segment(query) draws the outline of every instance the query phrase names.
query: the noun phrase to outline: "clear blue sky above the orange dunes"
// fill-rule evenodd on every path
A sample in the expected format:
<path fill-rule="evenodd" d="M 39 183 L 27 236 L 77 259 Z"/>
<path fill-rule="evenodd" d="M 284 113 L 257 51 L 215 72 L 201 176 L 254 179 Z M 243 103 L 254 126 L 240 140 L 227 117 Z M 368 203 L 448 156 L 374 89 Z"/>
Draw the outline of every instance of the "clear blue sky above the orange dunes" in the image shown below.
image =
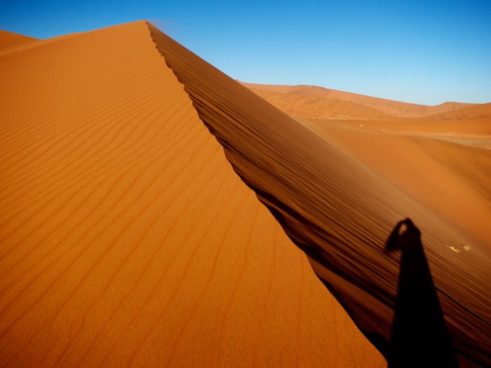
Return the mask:
<path fill-rule="evenodd" d="M 241 81 L 491 102 L 491 0 L 0 0 L 0 29 L 43 39 L 140 19 Z"/>

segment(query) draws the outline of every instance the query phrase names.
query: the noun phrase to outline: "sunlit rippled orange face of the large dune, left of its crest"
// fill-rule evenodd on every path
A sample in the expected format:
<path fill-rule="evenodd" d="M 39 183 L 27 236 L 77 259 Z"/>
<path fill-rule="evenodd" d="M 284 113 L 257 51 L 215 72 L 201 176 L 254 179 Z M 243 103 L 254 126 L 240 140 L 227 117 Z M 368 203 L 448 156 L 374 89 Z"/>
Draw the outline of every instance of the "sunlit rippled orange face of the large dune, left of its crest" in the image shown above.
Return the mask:
<path fill-rule="evenodd" d="M 0 59 L 1 366 L 384 365 L 144 22 L 16 50 Z"/>

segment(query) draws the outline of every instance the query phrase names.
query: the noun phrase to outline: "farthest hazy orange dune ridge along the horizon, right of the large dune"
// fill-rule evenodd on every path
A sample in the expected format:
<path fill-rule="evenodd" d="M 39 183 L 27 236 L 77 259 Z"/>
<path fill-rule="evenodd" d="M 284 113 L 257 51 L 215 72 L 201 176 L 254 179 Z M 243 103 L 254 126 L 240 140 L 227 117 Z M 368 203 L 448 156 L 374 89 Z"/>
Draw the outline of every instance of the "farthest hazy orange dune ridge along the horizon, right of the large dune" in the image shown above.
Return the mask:
<path fill-rule="evenodd" d="M 254 83 L 243 83 L 243 86 L 251 90 L 267 90 L 269 92 L 288 93 L 304 97 L 328 98 L 340 101 L 353 102 L 365 107 L 377 109 L 378 111 L 399 118 L 417 118 L 427 115 L 440 114 L 445 111 L 462 109 L 473 104 L 462 104 L 459 102 L 445 102 L 437 106 L 426 106 L 421 104 L 409 104 L 385 100 L 383 98 L 358 95 L 356 93 L 343 92 L 340 90 L 330 90 L 318 86 L 269 86 Z"/>

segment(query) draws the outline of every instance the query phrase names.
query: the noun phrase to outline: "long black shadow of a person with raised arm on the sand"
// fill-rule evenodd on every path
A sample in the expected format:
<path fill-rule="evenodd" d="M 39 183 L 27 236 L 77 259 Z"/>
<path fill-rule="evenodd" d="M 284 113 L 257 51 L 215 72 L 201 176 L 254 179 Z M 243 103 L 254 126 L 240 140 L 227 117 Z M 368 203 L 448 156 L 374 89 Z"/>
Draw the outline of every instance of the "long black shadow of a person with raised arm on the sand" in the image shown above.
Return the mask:
<path fill-rule="evenodd" d="M 410 219 L 399 222 L 386 251 L 401 250 L 392 323 L 389 367 L 459 367 L 424 255 L 421 232 Z"/>

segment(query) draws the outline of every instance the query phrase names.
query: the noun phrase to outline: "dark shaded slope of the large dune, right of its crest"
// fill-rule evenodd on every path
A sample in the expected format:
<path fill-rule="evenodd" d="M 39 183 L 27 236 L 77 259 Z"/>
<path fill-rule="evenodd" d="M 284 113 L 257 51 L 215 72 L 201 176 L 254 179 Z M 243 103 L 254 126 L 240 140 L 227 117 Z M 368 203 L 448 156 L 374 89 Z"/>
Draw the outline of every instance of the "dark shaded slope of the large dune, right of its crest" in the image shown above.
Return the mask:
<path fill-rule="evenodd" d="M 379 348 L 389 340 L 398 277 L 398 258 L 383 250 L 396 222 L 411 217 L 422 230 L 461 358 L 490 363 L 487 246 L 150 29 L 234 170 L 309 255 L 316 273 Z M 471 245 L 473 252 L 457 255 L 447 243 Z"/>

